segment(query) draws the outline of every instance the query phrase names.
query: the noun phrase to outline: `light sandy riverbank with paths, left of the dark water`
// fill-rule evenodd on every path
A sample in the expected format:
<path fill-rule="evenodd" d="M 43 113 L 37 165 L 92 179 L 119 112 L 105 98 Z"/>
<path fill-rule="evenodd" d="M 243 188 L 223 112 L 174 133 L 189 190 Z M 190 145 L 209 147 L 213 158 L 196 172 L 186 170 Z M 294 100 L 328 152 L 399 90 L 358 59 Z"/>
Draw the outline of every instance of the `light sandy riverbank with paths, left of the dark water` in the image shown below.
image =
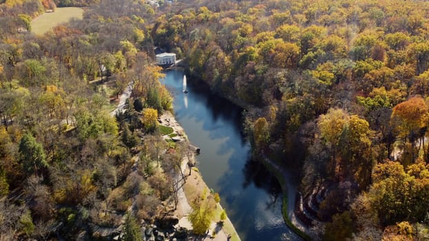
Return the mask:
<path fill-rule="evenodd" d="M 179 137 L 179 141 L 186 142 L 188 144 L 189 140 L 186 136 L 185 130 L 179 123 L 177 123 L 176 119 L 170 112 L 165 112 L 163 115 L 159 117 L 161 121 L 161 125 L 166 125 L 168 127 L 172 127 L 174 133 L 177 134 Z M 190 155 L 190 158 L 192 160 L 188 159 L 188 156 L 184 156 L 182 163 L 181 163 L 181 169 L 183 173 L 186 175 L 186 180 L 179 180 L 179 190 L 178 190 L 178 203 L 177 203 L 177 210 L 176 215 L 179 217 L 179 226 L 180 227 L 186 227 L 187 229 L 192 229 L 192 225 L 188 221 L 188 214 L 192 211 L 192 208 L 190 207 L 190 202 L 188 200 L 192 200 L 195 196 L 200 196 L 202 193 L 206 190 L 210 192 L 210 188 L 206 185 L 206 182 L 204 182 L 201 174 L 199 174 L 199 171 L 197 169 L 194 169 L 194 171 L 191 171 L 191 175 L 189 174 L 188 169 L 188 163 L 196 163 L 196 156 L 192 153 Z M 210 224 L 210 229 L 208 231 L 208 235 L 206 237 L 202 238 L 202 240 L 219 240 L 224 241 L 228 239 L 228 235 L 230 235 L 231 241 L 241 241 L 239 238 L 239 235 L 237 231 L 235 230 L 235 227 L 233 226 L 230 219 L 226 218 L 226 220 L 223 222 L 223 227 L 219 227 L 219 224 L 217 222 L 219 221 L 219 216 L 223 208 L 221 205 L 217 204 L 216 211 L 215 211 L 215 220 L 212 220 L 212 224 Z M 215 235 L 213 235 L 215 234 Z M 201 239 L 199 239 L 201 240 Z"/>

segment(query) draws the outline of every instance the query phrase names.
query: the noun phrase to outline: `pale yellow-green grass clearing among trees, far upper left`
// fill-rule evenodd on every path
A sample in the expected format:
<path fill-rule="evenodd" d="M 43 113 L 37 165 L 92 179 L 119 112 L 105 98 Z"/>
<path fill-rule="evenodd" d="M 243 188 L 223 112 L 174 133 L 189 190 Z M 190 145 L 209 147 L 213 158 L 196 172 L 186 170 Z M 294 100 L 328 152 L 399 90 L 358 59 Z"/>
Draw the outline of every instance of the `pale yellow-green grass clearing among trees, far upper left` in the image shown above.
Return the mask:
<path fill-rule="evenodd" d="M 42 35 L 56 25 L 59 25 L 59 23 L 66 23 L 71 18 L 82 19 L 83 9 L 57 8 L 55 12 L 45 12 L 31 21 L 31 32 Z"/>

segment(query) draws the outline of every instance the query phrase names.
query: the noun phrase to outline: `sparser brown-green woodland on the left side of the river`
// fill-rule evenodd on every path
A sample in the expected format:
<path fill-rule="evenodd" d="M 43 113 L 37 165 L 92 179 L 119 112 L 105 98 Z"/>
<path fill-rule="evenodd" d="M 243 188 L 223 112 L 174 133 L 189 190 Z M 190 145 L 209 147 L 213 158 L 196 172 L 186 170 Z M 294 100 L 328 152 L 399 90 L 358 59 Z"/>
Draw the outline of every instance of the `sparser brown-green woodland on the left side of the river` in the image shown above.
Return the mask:
<path fill-rule="evenodd" d="M 11 2 L 0 15 L 0 239 L 94 240 L 122 227 L 141 240 L 141 220 L 174 209 L 188 153 L 159 134 L 172 98 L 153 65 L 153 8 L 105 1 L 34 36 L 22 29 L 43 3 Z M 112 116 L 131 82 L 126 112 Z"/>

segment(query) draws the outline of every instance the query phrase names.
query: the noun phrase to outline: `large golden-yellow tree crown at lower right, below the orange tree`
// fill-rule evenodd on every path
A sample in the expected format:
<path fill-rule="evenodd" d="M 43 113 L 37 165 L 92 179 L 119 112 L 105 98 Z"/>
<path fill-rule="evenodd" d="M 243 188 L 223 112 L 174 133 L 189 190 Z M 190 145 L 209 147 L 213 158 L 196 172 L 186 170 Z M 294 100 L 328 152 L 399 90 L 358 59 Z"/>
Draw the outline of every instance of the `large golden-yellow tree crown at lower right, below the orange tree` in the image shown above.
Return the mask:
<path fill-rule="evenodd" d="M 408 166 L 387 161 L 375 167 L 373 184 L 368 191 L 372 209 L 383 225 L 401 221 L 418 222 L 428 212 L 428 170 L 423 163 Z M 422 175 L 423 174 L 423 175 Z"/>

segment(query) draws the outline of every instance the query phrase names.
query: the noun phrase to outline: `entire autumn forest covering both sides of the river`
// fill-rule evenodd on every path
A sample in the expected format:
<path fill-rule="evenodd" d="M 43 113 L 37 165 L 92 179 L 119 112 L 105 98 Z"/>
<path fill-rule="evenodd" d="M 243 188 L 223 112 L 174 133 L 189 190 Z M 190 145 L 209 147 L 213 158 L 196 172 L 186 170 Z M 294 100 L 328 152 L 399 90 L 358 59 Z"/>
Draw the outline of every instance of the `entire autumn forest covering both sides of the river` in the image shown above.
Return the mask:
<path fill-rule="evenodd" d="M 0 3 L 1 238 L 101 238 L 130 205 L 134 226 L 166 209 L 186 147 L 159 136 L 154 46 L 246 109 L 255 159 L 301 172 L 313 240 L 428 238 L 429 2 Z M 31 34 L 54 6 L 88 8 Z"/>

